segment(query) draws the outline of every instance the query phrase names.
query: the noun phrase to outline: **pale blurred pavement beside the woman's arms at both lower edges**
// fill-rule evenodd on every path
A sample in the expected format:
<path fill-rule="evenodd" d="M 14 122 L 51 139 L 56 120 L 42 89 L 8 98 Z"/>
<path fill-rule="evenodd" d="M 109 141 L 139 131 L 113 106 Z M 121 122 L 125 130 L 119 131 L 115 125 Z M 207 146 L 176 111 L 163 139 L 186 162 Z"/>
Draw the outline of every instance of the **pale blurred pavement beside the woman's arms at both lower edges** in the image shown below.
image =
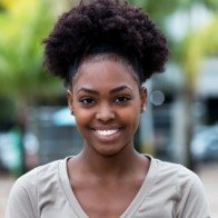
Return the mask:
<path fill-rule="evenodd" d="M 218 218 L 218 162 L 201 164 L 198 175 L 205 186 L 212 218 Z M 0 175 L 0 218 L 3 218 L 9 191 L 14 178 Z"/>

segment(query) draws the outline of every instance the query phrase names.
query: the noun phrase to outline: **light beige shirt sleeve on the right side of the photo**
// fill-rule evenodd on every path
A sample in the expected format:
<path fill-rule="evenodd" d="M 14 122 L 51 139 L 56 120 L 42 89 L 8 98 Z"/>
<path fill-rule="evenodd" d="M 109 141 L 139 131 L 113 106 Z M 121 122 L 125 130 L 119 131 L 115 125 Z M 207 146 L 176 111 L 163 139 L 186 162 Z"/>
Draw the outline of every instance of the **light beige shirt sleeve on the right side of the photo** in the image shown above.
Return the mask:
<path fill-rule="evenodd" d="M 188 169 L 178 176 L 176 218 L 211 218 L 207 197 L 199 177 Z"/>

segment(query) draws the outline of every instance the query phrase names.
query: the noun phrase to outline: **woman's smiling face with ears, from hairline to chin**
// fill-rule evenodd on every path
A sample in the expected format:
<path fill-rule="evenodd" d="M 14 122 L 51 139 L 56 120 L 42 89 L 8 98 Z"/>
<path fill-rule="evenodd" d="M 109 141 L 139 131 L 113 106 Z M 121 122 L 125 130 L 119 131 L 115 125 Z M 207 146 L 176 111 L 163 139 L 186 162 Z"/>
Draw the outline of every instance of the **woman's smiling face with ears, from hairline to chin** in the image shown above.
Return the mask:
<path fill-rule="evenodd" d="M 123 63 L 88 60 L 81 63 L 68 90 L 68 103 L 85 150 L 113 156 L 132 149 L 133 135 L 146 102 L 146 90 Z"/>

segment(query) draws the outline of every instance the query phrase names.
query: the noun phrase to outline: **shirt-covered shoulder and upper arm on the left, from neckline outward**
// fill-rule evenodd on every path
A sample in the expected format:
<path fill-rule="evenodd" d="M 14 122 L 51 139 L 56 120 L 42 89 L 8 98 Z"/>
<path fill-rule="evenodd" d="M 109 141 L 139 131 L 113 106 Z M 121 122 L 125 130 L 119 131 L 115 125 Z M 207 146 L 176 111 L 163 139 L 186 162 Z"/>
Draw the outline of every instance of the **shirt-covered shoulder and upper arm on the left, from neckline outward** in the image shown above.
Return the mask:
<path fill-rule="evenodd" d="M 7 204 L 7 218 L 39 217 L 39 194 L 56 180 L 61 161 L 63 160 L 37 167 L 16 180 Z"/>

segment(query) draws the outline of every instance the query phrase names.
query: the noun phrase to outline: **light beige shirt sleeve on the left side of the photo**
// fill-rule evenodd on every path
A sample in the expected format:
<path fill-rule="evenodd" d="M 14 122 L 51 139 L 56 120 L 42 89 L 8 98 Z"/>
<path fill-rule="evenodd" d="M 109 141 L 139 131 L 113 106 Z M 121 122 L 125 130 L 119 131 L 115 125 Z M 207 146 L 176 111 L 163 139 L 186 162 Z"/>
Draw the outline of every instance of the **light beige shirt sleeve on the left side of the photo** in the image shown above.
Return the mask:
<path fill-rule="evenodd" d="M 9 195 L 6 218 L 37 218 L 34 190 L 22 178 L 18 179 Z"/>

